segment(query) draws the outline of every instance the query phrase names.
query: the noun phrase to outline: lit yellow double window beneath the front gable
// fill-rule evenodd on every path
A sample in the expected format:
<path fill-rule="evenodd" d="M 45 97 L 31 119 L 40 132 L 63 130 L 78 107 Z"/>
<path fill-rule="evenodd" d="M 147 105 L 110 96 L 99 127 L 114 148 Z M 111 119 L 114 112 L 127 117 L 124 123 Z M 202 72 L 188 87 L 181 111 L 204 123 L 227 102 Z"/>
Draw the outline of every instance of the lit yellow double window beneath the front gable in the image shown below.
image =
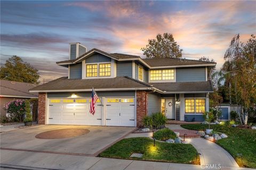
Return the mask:
<path fill-rule="evenodd" d="M 111 75 L 111 64 L 86 64 L 86 77 L 109 77 Z"/>

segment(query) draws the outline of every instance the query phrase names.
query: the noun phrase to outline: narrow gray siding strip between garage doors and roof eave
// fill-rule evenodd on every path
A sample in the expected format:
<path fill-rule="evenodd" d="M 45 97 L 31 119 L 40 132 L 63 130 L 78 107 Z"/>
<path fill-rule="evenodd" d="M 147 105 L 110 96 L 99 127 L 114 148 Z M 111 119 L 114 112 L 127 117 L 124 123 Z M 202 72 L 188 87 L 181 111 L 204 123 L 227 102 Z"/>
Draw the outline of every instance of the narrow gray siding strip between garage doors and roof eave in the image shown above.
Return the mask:
<path fill-rule="evenodd" d="M 67 98 L 70 97 L 74 92 L 49 92 L 47 93 L 48 98 Z M 91 97 L 92 92 L 75 92 L 77 97 Z M 99 97 L 134 97 L 134 91 L 97 91 Z"/>

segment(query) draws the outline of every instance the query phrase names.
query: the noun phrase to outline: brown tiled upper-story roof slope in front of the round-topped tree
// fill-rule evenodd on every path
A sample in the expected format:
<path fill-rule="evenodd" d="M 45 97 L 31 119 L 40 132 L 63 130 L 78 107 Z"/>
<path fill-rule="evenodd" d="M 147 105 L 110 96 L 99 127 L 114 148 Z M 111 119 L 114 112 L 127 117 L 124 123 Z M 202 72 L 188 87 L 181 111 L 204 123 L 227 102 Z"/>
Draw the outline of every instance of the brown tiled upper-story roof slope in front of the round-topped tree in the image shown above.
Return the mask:
<path fill-rule="evenodd" d="M 143 58 L 142 60 L 145 61 L 151 67 L 216 64 L 214 62 L 188 60 L 188 59 L 182 59 L 182 58 Z"/>

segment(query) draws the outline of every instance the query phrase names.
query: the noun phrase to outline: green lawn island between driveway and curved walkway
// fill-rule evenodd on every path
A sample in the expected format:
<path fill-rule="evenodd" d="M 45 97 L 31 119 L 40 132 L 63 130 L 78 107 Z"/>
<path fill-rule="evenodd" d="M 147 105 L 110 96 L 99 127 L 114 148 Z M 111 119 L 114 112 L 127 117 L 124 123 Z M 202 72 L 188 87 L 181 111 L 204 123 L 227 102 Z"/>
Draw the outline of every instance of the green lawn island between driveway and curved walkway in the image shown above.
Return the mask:
<path fill-rule="evenodd" d="M 159 162 L 194 164 L 197 151 L 190 144 L 175 144 L 157 142 L 149 138 L 127 138 L 123 139 L 99 156 L 121 159 L 153 160 Z M 142 153 L 142 158 L 131 158 L 133 153 Z M 199 158 L 197 159 L 199 163 Z"/>

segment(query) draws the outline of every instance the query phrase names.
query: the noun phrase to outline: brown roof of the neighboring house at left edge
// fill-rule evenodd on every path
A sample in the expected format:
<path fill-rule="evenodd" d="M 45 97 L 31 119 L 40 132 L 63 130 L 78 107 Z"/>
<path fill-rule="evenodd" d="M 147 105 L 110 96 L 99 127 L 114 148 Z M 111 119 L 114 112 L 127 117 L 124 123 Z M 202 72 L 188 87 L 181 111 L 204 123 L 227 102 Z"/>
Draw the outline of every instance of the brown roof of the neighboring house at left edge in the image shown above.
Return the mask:
<path fill-rule="evenodd" d="M 36 84 L 0 80 L 0 96 L 17 98 L 37 98 L 38 93 L 29 92 Z"/>

